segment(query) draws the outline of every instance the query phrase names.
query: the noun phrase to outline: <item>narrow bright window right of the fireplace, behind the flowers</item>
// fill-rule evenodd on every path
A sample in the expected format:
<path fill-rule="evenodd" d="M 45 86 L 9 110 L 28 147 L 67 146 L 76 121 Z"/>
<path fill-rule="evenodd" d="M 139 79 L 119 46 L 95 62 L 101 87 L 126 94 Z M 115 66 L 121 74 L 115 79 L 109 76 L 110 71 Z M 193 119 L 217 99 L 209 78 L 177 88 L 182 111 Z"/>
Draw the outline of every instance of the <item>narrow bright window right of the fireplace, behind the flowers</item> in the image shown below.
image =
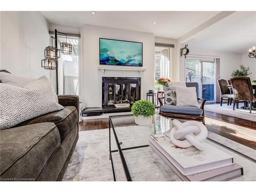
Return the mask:
<path fill-rule="evenodd" d="M 170 48 L 155 47 L 155 81 L 161 77 L 169 78 Z M 156 84 L 155 91 L 161 91 L 162 86 Z"/>

